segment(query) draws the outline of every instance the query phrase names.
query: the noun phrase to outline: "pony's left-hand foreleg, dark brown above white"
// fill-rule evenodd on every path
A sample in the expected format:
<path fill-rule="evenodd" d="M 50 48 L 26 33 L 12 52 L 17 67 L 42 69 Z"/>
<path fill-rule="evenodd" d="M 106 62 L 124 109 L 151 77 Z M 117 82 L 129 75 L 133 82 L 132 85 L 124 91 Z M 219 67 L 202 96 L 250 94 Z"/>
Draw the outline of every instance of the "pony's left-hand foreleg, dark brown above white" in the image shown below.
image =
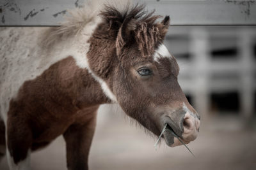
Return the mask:
<path fill-rule="evenodd" d="M 28 124 L 16 117 L 8 118 L 6 129 L 6 157 L 10 170 L 29 170 L 31 129 Z"/>

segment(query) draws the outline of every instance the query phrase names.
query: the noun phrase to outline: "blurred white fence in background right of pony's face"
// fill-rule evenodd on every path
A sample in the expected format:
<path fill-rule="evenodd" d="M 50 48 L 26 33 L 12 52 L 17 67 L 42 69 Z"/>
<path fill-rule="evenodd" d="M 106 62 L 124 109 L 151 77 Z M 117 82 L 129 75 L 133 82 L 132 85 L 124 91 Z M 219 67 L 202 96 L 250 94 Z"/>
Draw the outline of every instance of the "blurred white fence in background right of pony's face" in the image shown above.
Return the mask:
<path fill-rule="evenodd" d="M 256 57 L 253 51 L 256 27 L 171 27 L 169 32 L 166 45 L 170 51 L 174 55 L 180 52 L 191 55 L 189 59 L 177 57 L 179 82 L 184 92 L 192 97 L 196 110 L 200 114 L 209 113 L 212 93 L 237 92 L 240 105 L 237 112 L 244 117 L 252 117 L 256 92 Z M 176 45 L 177 39 L 172 39 L 173 36 L 178 37 Z M 187 39 L 179 42 L 179 36 L 187 36 Z M 237 50 L 231 58 L 214 59 L 211 54 L 212 50 L 230 47 Z"/>

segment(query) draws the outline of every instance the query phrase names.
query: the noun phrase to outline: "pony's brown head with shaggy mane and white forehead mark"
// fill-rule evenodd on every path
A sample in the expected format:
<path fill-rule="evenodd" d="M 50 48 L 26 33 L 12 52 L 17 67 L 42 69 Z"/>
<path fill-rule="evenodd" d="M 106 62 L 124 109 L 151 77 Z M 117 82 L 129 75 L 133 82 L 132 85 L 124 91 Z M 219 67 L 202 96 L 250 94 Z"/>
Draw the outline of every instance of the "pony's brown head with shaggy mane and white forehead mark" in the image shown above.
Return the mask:
<path fill-rule="evenodd" d="M 170 18 L 158 22 L 160 16 L 146 13 L 141 5 L 124 11 L 105 6 L 100 15 L 103 21 L 88 52 L 98 53 L 97 59 L 89 60 L 92 70 L 125 113 L 143 127 L 159 136 L 168 124 L 184 143 L 193 141 L 199 116 L 180 89 L 179 66 L 163 44 Z M 181 145 L 170 131 L 164 132 L 164 139 L 168 146 Z"/>

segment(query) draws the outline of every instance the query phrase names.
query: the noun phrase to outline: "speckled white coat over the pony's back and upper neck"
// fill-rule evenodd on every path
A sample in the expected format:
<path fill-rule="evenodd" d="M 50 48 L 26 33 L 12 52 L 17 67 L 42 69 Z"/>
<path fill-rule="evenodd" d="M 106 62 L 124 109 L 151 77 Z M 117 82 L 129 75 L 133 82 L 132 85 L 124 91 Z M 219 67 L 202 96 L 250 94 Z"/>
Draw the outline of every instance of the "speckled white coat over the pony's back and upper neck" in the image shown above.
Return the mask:
<path fill-rule="evenodd" d="M 10 100 L 17 96 L 25 81 L 33 80 L 52 64 L 69 56 L 76 58 L 79 67 L 84 67 L 84 55 L 90 48 L 88 39 L 100 22 L 100 17 L 93 18 L 79 34 L 56 40 L 52 48 L 38 45 L 40 39 L 47 35 L 47 27 L 1 29 L 0 39 L 4 43 L 0 48 L 0 118 L 5 125 Z M 108 86 L 102 85 L 102 89 L 105 87 Z M 106 94 L 110 96 L 111 93 Z M 113 96 L 111 98 L 114 99 Z"/>

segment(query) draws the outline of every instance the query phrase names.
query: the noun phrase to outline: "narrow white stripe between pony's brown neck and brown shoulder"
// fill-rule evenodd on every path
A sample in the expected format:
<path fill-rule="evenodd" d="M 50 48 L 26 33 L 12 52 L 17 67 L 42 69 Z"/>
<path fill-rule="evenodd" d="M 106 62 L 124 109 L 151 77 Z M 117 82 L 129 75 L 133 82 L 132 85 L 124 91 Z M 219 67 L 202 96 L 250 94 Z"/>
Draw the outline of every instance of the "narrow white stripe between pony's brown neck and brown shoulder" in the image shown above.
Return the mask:
<path fill-rule="evenodd" d="M 76 60 L 76 64 L 77 66 L 81 67 L 81 68 L 86 68 L 88 70 L 88 72 L 90 74 L 92 74 L 93 78 L 98 81 L 98 83 L 100 84 L 100 87 L 102 89 L 102 91 L 104 92 L 104 94 L 111 99 L 111 101 L 113 101 L 114 103 L 117 103 L 116 100 L 116 96 L 113 94 L 113 92 L 111 92 L 111 90 L 109 89 L 107 83 L 102 80 L 102 78 L 100 78 L 99 76 L 97 76 L 95 73 L 93 73 L 92 69 L 89 66 L 89 62 L 87 59 L 86 55 L 74 55 L 73 56 L 74 59 Z"/>

